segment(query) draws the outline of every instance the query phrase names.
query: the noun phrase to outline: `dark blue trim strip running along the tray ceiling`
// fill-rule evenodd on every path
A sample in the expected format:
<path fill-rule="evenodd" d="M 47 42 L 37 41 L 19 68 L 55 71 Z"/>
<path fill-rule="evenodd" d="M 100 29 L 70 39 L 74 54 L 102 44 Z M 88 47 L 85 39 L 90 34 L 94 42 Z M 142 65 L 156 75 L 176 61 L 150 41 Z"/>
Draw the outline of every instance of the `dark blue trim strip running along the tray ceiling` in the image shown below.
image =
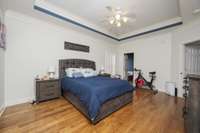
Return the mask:
<path fill-rule="evenodd" d="M 94 28 L 92 28 L 92 27 L 90 27 L 90 26 L 87 26 L 87 25 L 85 25 L 85 24 L 82 24 L 82 23 L 80 23 L 80 22 L 78 22 L 78 21 L 72 20 L 72 19 L 70 19 L 70 18 L 68 18 L 68 17 L 65 17 L 65 16 L 63 16 L 63 15 L 59 15 L 58 13 L 55 13 L 55 12 L 53 12 L 53 11 L 50 11 L 50 10 L 45 9 L 45 8 L 43 8 L 43 7 L 40 7 L 40 6 L 38 6 L 38 5 L 34 5 L 33 8 L 34 8 L 35 10 L 38 10 L 38 11 L 40 11 L 40 12 L 43 12 L 43 13 L 45 13 L 45 14 L 47 14 L 47 15 L 53 16 L 53 17 L 58 18 L 58 19 L 61 19 L 61 20 L 64 20 L 64 21 L 66 21 L 66 22 L 69 22 L 69 23 L 74 24 L 74 25 L 76 25 L 76 26 L 82 27 L 82 28 L 84 28 L 84 29 L 93 31 L 93 32 L 95 32 L 95 33 L 98 33 L 98 34 L 100 34 L 100 35 L 103 35 L 103 36 L 105 36 L 105 37 L 108 37 L 108 38 L 110 38 L 110 39 L 113 39 L 113 40 L 115 40 L 115 41 L 124 41 L 124 40 L 128 40 L 128 39 L 131 39 L 131 38 L 135 38 L 135 37 L 138 37 L 138 36 L 146 35 L 146 34 L 149 34 L 149 33 L 157 32 L 157 31 L 160 31 L 160 30 L 164 30 L 164 29 L 167 29 L 167 28 L 172 28 L 172 27 L 179 26 L 179 25 L 182 25 L 182 24 L 183 24 L 182 21 L 180 21 L 180 22 L 174 22 L 174 23 L 172 23 L 172 24 L 160 26 L 160 27 L 153 28 L 153 29 L 150 29 L 150 30 L 147 30 L 147 31 L 144 31 L 144 32 L 140 32 L 140 33 L 137 33 L 137 34 L 129 35 L 129 36 L 126 36 L 126 37 L 123 37 L 123 38 L 117 38 L 117 37 L 108 35 L 108 34 L 106 34 L 106 33 L 104 33 L 104 32 L 101 32 L 101 31 L 99 31 L 99 30 L 97 30 L 97 29 L 94 29 Z"/>

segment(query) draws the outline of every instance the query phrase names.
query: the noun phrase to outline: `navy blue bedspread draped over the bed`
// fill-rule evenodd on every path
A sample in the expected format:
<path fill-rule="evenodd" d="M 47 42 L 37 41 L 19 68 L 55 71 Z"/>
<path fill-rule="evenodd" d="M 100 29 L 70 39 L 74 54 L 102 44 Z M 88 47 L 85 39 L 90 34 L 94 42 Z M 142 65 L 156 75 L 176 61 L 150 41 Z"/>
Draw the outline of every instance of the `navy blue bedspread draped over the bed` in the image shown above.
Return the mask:
<path fill-rule="evenodd" d="M 62 89 L 73 93 L 88 109 L 89 116 L 94 120 L 101 105 L 107 100 L 126 92 L 133 91 L 133 86 L 125 80 L 109 77 L 68 78 L 62 79 Z"/>

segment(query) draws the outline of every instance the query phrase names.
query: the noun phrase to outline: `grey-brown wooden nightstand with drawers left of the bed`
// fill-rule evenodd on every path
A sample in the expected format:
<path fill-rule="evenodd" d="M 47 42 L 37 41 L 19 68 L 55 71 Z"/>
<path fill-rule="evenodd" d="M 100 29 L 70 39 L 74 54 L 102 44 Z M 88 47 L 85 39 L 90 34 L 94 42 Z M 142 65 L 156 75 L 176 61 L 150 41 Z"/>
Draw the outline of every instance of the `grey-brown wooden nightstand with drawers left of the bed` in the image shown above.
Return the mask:
<path fill-rule="evenodd" d="M 36 103 L 61 96 L 59 79 L 36 80 Z"/>

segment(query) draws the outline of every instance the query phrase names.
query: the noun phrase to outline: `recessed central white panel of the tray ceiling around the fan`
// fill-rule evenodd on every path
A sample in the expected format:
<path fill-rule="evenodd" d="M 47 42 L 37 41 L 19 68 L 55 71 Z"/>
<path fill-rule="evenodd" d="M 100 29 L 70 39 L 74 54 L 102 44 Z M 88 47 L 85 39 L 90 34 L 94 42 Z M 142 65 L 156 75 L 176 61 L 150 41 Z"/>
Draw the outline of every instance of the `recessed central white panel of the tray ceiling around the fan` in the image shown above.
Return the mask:
<path fill-rule="evenodd" d="M 117 36 L 180 17 L 178 0 L 46 0 L 46 2 Z M 120 7 L 123 11 L 134 13 L 136 21 L 120 28 L 113 27 L 108 22 L 103 22 L 106 16 L 110 15 L 106 6 Z"/>

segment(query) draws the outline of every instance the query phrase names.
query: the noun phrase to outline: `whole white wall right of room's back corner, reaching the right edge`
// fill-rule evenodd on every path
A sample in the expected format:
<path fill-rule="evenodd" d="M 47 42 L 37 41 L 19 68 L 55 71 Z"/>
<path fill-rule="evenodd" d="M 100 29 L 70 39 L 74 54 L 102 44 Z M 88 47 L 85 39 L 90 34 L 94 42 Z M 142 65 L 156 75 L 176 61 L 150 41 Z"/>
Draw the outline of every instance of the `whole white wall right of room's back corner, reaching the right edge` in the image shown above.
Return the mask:
<path fill-rule="evenodd" d="M 178 96 L 182 97 L 184 44 L 197 40 L 200 40 L 200 19 L 127 40 L 118 47 L 117 72 L 123 74 L 123 53 L 134 52 L 135 67 L 141 68 L 144 74 L 152 70 L 157 71 L 157 89 L 164 91 L 165 81 L 172 81 L 176 83 Z"/>

